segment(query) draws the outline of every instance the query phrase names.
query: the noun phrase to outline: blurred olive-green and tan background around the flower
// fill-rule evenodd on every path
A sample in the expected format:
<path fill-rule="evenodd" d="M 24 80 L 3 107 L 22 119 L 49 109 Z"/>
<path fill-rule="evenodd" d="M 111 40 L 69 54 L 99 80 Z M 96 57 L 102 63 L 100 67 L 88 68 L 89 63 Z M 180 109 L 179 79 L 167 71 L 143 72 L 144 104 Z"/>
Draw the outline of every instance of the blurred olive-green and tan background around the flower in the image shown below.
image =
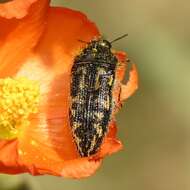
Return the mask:
<path fill-rule="evenodd" d="M 190 189 L 190 1 L 53 0 L 80 10 L 101 33 L 128 52 L 140 76 L 138 92 L 117 115 L 124 150 L 83 180 L 0 176 L 13 190 Z M 60 34 L 61 35 L 61 34 Z M 7 181 L 12 181 L 7 186 Z M 3 186 L 4 185 L 4 186 Z"/>

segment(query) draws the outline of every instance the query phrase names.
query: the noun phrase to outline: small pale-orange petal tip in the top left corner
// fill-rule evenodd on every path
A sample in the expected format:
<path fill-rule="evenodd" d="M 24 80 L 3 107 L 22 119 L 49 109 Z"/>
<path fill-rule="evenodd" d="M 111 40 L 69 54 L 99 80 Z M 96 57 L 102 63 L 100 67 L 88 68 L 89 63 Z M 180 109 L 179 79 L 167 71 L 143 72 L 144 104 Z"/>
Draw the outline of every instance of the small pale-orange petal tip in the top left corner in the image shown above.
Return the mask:
<path fill-rule="evenodd" d="M 28 13 L 32 3 L 37 0 L 13 0 L 0 4 L 0 16 L 5 18 L 23 18 Z"/>

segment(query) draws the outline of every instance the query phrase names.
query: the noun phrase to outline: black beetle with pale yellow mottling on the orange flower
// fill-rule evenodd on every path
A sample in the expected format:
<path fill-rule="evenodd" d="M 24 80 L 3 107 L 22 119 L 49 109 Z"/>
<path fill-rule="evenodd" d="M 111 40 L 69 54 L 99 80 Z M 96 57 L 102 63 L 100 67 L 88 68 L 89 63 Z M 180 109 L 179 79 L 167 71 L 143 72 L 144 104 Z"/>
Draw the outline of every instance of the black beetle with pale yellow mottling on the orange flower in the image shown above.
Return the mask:
<path fill-rule="evenodd" d="M 71 70 L 70 125 L 81 157 L 95 154 L 108 131 L 118 60 L 112 42 L 98 38 L 75 57 Z"/>

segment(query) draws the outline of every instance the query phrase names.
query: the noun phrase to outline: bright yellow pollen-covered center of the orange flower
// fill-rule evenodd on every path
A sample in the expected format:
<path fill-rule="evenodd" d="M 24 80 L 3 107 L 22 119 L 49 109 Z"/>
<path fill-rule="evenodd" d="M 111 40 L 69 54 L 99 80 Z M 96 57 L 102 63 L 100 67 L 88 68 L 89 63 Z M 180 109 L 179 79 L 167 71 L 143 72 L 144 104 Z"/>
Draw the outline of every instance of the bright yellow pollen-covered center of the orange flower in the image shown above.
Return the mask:
<path fill-rule="evenodd" d="M 24 77 L 0 79 L 0 139 L 14 139 L 38 112 L 39 84 Z"/>

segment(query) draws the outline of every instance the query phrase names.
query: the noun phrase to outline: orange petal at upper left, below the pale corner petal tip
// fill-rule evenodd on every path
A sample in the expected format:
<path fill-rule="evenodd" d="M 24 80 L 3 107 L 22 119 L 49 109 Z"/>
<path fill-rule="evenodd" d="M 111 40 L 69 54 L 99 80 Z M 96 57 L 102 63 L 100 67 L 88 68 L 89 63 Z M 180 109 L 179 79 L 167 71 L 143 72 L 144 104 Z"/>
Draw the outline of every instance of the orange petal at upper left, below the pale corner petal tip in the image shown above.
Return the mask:
<path fill-rule="evenodd" d="M 29 14 L 21 20 L 0 18 L 1 78 L 16 73 L 30 56 L 45 26 L 48 2 L 40 0 L 34 3 Z"/>

